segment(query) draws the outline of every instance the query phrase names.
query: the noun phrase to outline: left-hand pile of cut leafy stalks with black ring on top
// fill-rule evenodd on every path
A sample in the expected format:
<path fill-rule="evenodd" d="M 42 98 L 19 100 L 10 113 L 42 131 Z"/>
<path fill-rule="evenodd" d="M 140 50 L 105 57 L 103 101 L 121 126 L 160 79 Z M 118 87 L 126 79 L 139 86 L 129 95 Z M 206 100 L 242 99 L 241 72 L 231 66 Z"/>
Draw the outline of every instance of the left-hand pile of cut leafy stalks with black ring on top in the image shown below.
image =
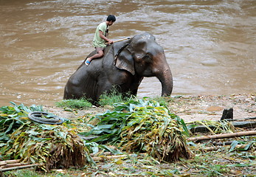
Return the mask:
<path fill-rule="evenodd" d="M 87 151 L 83 140 L 67 125 L 45 125 L 30 121 L 31 111 L 41 106 L 16 105 L 0 108 L 0 159 L 37 163 L 43 170 L 83 167 Z M 88 157 L 88 156 L 87 156 Z"/>

